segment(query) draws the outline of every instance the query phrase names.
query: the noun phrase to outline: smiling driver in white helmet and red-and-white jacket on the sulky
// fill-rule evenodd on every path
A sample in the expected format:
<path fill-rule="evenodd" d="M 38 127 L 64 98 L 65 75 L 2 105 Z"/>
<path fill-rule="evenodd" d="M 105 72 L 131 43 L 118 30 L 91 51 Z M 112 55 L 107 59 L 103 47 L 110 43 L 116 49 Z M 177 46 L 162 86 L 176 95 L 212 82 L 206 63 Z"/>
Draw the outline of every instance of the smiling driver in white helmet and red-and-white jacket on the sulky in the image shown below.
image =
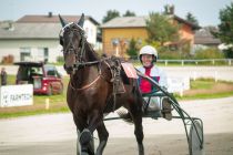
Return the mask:
<path fill-rule="evenodd" d="M 155 65 L 158 60 L 158 51 L 151 45 L 145 45 L 140 50 L 139 59 L 142 63 L 142 66 L 139 68 L 139 71 L 156 81 L 161 87 L 166 90 L 166 74 L 163 70 Z M 142 78 L 139 78 L 139 86 L 142 93 L 162 93 L 158 92 L 159 90 L 156 91 L 156 87 L 153 86 L 153 84 Z M 146 103 L 149 102 L 149 97 L 144 97 L 144 100 Z M 160 112 L 161 116 L 163 116 L 164 118 L 169 121 L 172 120 L 172 108 L 168 97 L 161 99 L 159 96 L 152 96 L 146 107 L 146 111 Z"/>

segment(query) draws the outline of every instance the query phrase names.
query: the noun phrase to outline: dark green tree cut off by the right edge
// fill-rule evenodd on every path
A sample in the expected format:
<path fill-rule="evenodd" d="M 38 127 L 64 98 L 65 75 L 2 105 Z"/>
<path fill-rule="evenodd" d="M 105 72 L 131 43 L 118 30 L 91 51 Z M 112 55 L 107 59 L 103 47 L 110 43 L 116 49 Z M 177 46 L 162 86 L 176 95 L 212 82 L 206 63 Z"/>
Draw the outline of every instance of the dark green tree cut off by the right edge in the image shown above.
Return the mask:
<path fill-rule="evenodd" d="M 229 46 L 224 51 L 226 58 L 233 58 L 233 2 L 220 10 L 220 20 L 219 32 L 213 32 L 213 34 Z"/>

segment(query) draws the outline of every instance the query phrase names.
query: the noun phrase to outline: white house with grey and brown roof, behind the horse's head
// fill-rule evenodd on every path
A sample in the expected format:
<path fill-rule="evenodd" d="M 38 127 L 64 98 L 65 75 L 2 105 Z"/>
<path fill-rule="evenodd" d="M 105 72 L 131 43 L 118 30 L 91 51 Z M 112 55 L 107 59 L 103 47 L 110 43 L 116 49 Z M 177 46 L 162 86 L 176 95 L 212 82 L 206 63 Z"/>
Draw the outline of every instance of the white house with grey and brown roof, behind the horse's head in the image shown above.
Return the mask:
<path fill-rule="evenodd" d="M 80 16 L 62 16 L 69 22 L 75 22 Z M 88 41 L 97 44 L 99 23 L 85 17 L 84 30 Z M 0 23 L 0 61 L 12 55 L 14 61 L 40 60 L 57 62 L 62 56 L 59 44 L 61 23 L 58 16 L 24 16 L 16 22 Z"/>

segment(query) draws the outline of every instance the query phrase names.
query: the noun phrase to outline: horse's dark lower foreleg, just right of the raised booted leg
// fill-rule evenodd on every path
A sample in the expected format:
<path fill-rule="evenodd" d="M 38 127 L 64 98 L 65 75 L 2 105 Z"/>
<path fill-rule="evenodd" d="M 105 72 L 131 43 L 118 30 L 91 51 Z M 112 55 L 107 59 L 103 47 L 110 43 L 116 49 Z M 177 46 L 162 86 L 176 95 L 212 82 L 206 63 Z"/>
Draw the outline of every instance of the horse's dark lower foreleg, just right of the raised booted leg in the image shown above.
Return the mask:
<path fill-rule="evenodd" d="M 104 147 L 107 145 L 107 142 L 108 142 L 108 138 L 109 138 L 109 132 L 107 131 L 103 121 L 99 124 L 97 130 L 98 130 L 98 136 L 100 138 L 100 144 L 98 146 L 95 155 L 102 155 L 103 154 L 103 149 L 104 149 Z"/>

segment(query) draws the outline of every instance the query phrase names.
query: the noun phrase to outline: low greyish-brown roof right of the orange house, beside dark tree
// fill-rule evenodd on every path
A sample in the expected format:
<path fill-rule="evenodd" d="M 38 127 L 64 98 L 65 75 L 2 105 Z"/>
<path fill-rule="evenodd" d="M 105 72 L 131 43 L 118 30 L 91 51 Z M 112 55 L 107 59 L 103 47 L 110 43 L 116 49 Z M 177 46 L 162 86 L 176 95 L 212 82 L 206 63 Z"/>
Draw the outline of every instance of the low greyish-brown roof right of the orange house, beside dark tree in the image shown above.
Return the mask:
<path fill-rule="evenodd" d="M 217 31 L 214 27 L 205 27 L 195 32 L 194 44 L 221 44 L 220 39 L 213 37 L 211 31 Z"/>

